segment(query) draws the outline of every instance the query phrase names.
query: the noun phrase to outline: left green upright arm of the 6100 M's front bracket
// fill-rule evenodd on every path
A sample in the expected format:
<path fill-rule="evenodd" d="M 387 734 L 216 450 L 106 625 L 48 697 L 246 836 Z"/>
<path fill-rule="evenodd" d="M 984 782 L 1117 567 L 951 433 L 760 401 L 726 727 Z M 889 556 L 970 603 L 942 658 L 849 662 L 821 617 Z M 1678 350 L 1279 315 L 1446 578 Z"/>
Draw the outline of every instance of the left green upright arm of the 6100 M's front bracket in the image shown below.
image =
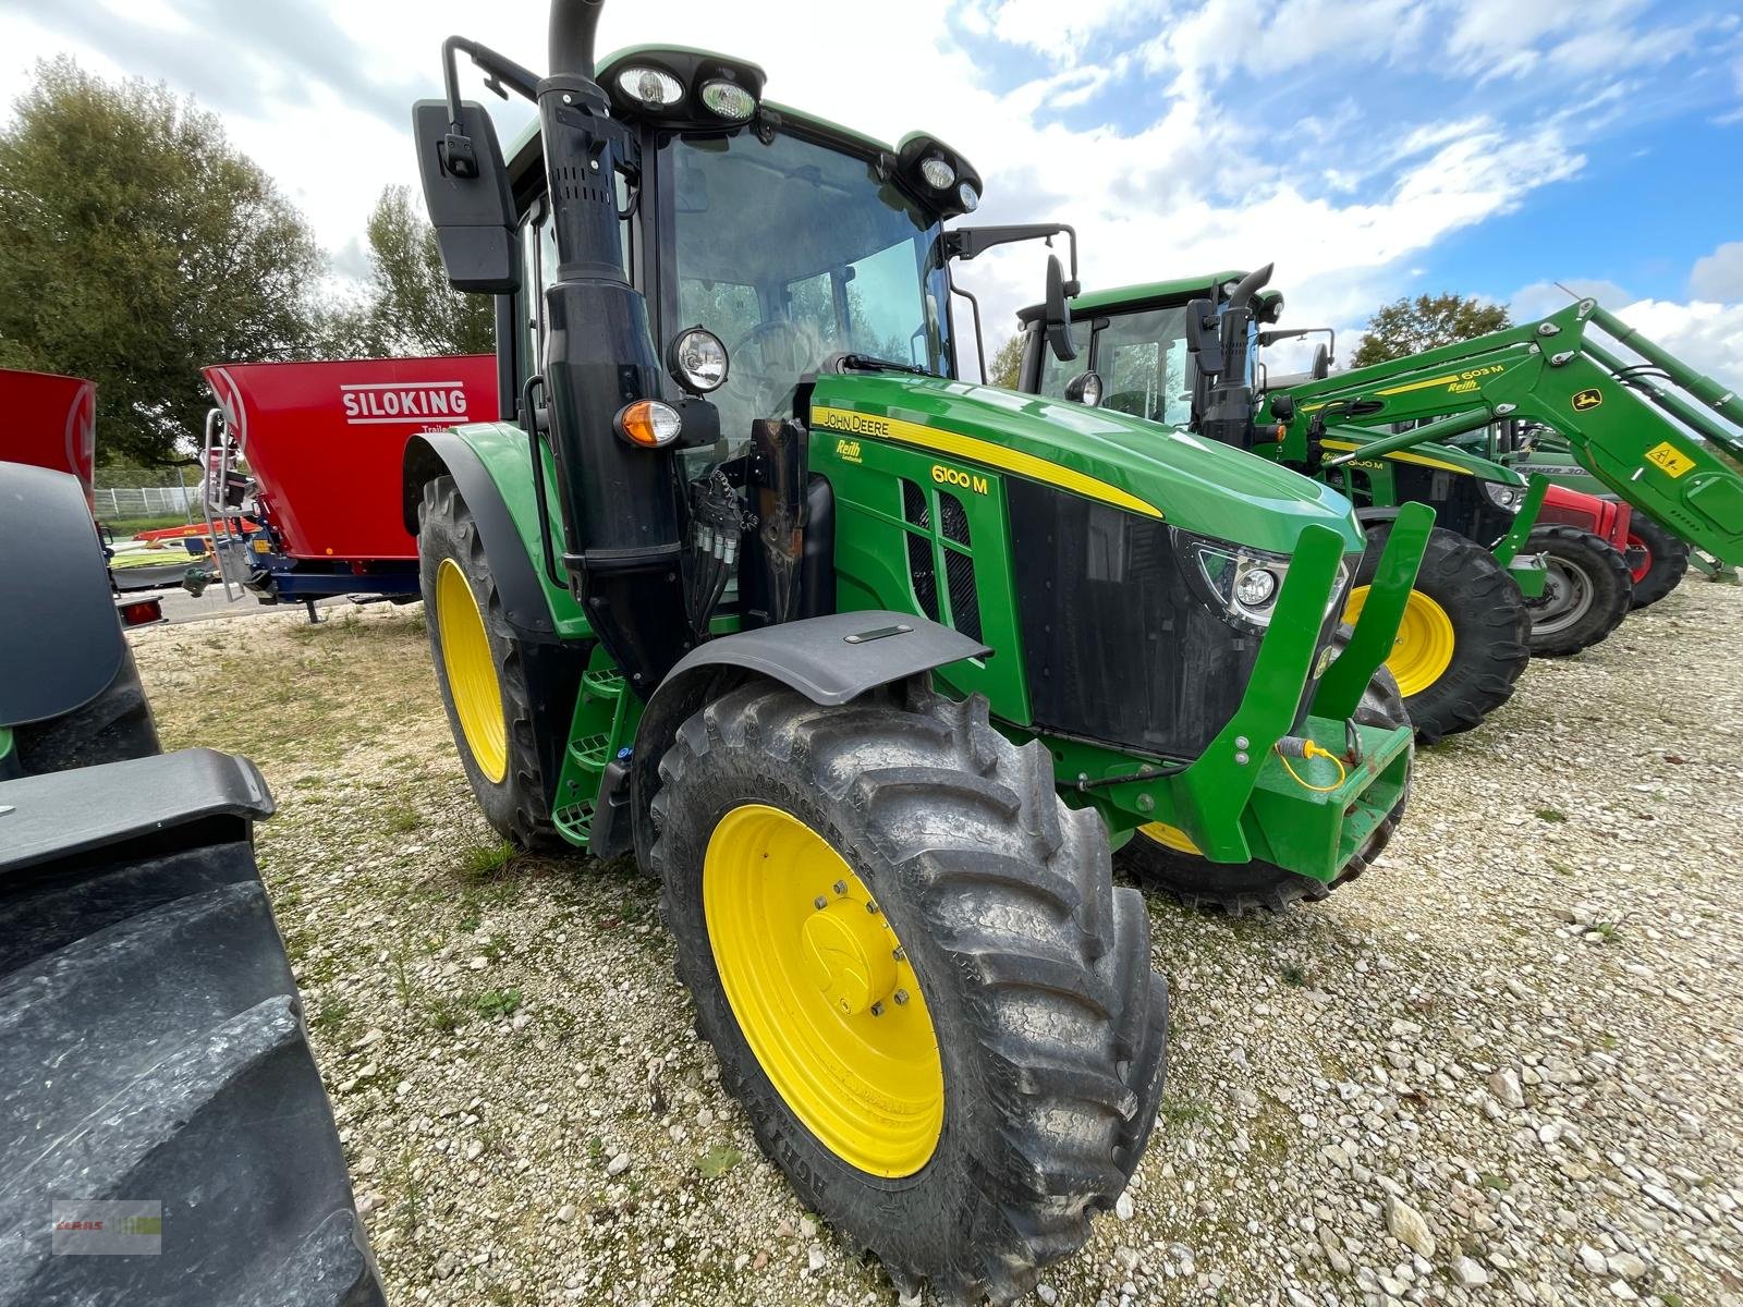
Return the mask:
<path fill-rule="evenodd" d="M 1431 511 L 1428 516 L 1433 521 Z M 1422 538 L 1426 542 L 1426 532 Z M 1177 809 L 1183 810 L 1182 816 L 1190 814 L 1190 830 L 1211 861 L 1246 863 L 1253 857 L 1239 817 L 1271 746 L 1295 725 L 1325 624 L 1325 601 L 1342 554 L 1344 540 L 1330 526 L 1316 525 L 1302 532 L 1241 706 L 1199 760 L 1173 777 Z"/>

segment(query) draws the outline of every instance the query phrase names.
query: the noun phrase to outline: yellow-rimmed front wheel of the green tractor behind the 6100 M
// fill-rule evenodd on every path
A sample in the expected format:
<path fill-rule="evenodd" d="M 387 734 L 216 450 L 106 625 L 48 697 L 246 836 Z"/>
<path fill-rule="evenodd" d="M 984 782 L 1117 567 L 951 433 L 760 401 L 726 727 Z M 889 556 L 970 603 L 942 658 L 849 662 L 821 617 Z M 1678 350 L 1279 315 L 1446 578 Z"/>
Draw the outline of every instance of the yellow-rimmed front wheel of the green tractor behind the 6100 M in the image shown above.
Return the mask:
<path fill-rule="evenodd" d="M 1368 528 L 1346 622 L 1361 613 L 1389 533 L 1386 523 Z M 1429 532 L 1398 640 L 1386 659 L 1417 739 L 1434 744 L 1471 730 L 1511 699 L 1530 660 L 1529 633 L 1520 587 L 1495 556 L 1441 526 Z"/>

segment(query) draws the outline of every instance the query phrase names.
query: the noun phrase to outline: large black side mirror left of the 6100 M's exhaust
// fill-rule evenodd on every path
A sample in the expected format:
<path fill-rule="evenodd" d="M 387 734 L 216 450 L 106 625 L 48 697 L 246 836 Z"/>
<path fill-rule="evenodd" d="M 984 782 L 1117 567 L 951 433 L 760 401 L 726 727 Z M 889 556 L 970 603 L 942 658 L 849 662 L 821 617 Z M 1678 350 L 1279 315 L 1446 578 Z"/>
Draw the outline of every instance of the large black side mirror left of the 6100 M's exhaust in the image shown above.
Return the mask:
<path fill-rule="evenodd" d="M 411 106 L 411 136 L 448 284 L 457 291 L 512 295 L 521 288 L 514 199 L 490 113 L 483 105 L 464 103 L 455 136 L 448 103 L 420 99 Z"/>

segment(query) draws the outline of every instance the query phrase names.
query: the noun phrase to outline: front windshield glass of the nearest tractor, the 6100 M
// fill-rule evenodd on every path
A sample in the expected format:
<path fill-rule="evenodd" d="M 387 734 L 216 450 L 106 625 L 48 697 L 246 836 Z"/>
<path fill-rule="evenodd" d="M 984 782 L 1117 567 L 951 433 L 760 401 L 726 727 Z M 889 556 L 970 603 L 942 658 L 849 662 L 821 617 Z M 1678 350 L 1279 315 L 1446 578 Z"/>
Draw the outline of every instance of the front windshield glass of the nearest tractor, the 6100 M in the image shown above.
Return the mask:
<path fill-rule="evenodd" d="M 831 354 L 948 373 L 939 223 L 870 160 L 741 132 L 680 139 L 673 173 L 678 315 L 727 343 L 713 401 L 730 441 L 790 415 L 800 378 Z"/>

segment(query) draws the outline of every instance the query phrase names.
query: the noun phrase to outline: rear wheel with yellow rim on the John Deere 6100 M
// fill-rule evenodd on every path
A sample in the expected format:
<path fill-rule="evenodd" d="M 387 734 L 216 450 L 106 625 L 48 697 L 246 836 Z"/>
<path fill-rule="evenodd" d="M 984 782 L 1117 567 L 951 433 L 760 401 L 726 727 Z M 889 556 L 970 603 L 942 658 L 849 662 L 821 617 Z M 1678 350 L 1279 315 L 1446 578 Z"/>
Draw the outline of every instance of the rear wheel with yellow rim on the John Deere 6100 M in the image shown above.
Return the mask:
<path fill-rule="evenodd" d="M 485 819 L 521 849 L 565 847 L 546 802 L 519 640 L 451 476 L 424 484 L 418 584 L 441 702 Z"/>

